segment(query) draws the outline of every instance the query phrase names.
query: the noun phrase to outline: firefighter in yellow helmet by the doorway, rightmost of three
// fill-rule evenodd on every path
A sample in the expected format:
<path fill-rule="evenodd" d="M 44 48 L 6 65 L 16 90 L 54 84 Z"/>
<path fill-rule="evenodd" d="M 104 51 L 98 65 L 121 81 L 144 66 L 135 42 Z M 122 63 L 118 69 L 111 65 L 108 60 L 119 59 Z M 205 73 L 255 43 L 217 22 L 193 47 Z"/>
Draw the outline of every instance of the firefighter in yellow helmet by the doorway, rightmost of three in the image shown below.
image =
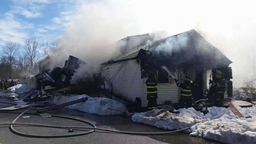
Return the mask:
<path fill-rule="evenodd" d="M 210 92 L 214 95 L 214 102 L 217 107 L 223 107 L 224 93 L 226 91 L 225 80 L 222 79 L 222 72 L 215 70 L 215 79 L 209 80 Z"/>

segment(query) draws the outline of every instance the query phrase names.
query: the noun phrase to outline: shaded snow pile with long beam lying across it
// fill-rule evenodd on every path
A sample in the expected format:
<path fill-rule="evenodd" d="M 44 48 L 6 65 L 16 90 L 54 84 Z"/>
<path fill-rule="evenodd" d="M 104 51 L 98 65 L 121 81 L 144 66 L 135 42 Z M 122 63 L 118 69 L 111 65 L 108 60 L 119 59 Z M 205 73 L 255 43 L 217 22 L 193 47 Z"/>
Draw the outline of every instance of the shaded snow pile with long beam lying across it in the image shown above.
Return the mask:
<path fill-rule="evenodd" d="M 126 106 L 121 102 L 114 101 L 105 97 L 90 97 L 87 95 L 54 96 L 50 100 L 50 103 L 60 104 L 84 97 L 88 97 L 88 100 L 85 102 L 66 106 L 65 108 L 86 113 L 98 114 L 101 116 L 123 114 L 127 111 Z"/>

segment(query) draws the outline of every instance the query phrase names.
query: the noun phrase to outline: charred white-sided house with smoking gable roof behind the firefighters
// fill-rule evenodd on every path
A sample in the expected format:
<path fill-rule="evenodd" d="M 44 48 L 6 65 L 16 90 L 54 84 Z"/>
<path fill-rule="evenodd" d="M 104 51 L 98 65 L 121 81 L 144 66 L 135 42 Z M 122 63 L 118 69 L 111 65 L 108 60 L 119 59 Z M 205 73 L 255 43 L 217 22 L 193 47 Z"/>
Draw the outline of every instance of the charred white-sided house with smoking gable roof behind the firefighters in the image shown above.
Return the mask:
<path fill-rule="evenodd" d="M 126 44 L 132 45 L 130 43 L 132 41 Z M 218 67 L 228 82 L 228 95 L 232 95 L 231 60 L 195 30 L 132 46 L 101 64 L 102 79 L 105 84 L 111 85 L 107 88 L 116 95 L 133 101 L 140 98 L 141 106 L 147 106 L 145 81 L 150 72 L 155 72 L 158 78 L 158 104 L 178 102 L 180 89 L 162 66 L 166 66 L 179 81 L 185 75 L 190 76 L 197 84 L 192 87 L 193 96 L 197 99 L 204 97 L 204 90 L 209 88 L 211 71 Z"/>

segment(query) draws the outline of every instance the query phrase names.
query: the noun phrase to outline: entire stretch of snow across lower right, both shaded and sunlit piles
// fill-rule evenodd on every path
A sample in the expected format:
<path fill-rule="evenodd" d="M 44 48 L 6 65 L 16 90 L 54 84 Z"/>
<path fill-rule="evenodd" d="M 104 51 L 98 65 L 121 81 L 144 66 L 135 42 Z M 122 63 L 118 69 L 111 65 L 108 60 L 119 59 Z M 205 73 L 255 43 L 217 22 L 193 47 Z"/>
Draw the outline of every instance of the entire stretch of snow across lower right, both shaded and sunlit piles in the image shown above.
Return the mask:
<path fill-rule="evenodd" d="M 191 136 L 204 137 L 230 144 L 255 144 L 256 143 L 256 107 L 241 108 L 236 107 L 245 117 L 238 118 L 230 108 L 218 119 L 209 121 L 222 114 L 226 109 L 221 107 L 210 107 L 209 113 L 204 115 L 193 108 L 179 109 L 180 114 L 165 112 L 154 117 L 160 110 L 155 109 L 143 113 L 135 113 L 132 117 L 134 122 L 149 124 L 164 129 L 190 128 Z M 198 123 L 202 120 L 204 123 Z"/>

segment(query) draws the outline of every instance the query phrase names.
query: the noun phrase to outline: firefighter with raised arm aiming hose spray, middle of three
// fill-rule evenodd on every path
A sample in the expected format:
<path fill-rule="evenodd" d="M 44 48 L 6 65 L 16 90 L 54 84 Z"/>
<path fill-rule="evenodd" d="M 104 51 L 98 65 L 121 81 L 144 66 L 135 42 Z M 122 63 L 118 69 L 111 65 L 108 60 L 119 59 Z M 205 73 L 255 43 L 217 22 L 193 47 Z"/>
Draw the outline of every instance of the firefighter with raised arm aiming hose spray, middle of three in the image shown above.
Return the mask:
<path fill-rule="evenodd" d="M 174 79 L 176 85 L 181 88 L 180 91 L 180 108 L 185 107 L 185 102 L 187 103 L 186 107 L 192 107 L 192 93 L 191 93 L 191 79 L 188 76 L 184 77 L 184 83 L 180 83 L 176 78 Z"/>

